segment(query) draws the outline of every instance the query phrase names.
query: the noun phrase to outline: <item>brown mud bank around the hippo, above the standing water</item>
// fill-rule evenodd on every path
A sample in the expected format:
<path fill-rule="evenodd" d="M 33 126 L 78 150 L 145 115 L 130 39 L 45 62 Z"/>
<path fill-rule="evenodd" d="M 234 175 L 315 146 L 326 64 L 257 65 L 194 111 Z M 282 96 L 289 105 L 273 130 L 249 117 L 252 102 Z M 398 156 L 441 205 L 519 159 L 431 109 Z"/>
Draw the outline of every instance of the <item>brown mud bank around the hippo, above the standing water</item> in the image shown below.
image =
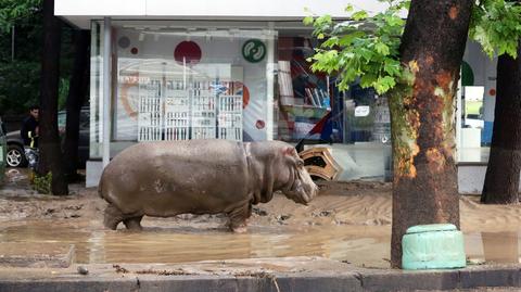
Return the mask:
<path fill-rule="evenodd" d="M 38 194 L 26 181 L 25 172 L 13 169 L 8 183 L 0 189 L 0 221 L 20 219 L 99 220 L 106 204 L 96 188 L 71 186 L 71 195 Z M 20 173 L 18 173 L 20 172 Z M 11 180 L 9 180 L 11 179 Z M 250 224 L 293 225 L 389 225 L 391 223 L 391 185 L 383 182 L 318 182 L 320 193 L 308 206 L 295 204 L 278 193 L 268 204 L 254 206 Z M 218 228 L 226 225 L 224 215 L 179 215 L 170 219 L 147 218 L 162 225 L 190 225 L 194 228 Z M 123 228 L 123 225 L 119 226 Z"/>

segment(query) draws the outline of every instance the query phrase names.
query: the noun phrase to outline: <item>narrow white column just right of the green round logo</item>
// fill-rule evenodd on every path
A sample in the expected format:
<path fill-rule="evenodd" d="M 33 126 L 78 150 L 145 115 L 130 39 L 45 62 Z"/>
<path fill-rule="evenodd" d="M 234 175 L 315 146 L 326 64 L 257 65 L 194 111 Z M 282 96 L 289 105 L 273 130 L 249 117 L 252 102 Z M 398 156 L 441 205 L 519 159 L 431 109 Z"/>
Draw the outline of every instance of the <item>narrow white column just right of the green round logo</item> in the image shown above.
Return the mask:
<path fill-rule="evenodd" d="M 266 140 L 274 140 L 274 98 L 275 98 L 275 23 L 268 23 L 267 64 L 266 64 Z"/>

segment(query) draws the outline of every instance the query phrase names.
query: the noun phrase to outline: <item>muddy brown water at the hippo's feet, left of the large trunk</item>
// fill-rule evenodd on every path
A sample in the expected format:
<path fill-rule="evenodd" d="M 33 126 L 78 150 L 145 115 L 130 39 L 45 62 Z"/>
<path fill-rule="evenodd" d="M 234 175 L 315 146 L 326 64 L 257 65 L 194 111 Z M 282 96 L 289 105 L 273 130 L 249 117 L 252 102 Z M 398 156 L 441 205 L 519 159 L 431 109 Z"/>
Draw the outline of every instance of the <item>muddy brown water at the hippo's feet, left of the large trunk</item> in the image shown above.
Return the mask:
<path fill-rule="evenodd" d="M 0 230 L 0 242 L 75 244 L 78 263 L 182 263 L 230 258 L 323 256 L 359 266 L 389 267 L 389 227 L 251 227 L 225 230 L 145 227 L 142 232 L 88 230 L 85 224 L 26 221 Z"/>

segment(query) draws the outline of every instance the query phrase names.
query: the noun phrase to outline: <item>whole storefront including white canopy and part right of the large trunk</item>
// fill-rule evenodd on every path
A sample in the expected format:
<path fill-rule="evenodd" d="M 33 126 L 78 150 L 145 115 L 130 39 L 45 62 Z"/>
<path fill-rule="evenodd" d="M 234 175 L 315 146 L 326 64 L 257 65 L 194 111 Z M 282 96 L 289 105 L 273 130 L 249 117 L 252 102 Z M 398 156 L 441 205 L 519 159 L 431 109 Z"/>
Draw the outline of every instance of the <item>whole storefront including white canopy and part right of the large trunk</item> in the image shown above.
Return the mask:
<path fill-rule="evenodd" d="M 317 40 L 302 24 L 304 8 L 342 18 L 345 1 L 267 0 L 255 7 L 200 0 L 176 7 L 134 0 L 110 8 L 99 2 L 56 0 L 58 15 L 92 35 L 88 186 L 96 186 L 103 165 L 134 143 L 208 138 L 321 143 L 342 167 L 336 179 L 390 178 L 386 98 L 356 82 L 340 91 L 334 76 L 313 73 L 306 62 Z M 351 2 L 371 11 L 383 8 L 379 1 Z M 457 106 L 463 162 L 486 152 L 486 122 L 471 119 L 486 119 L 494 104 L 483 99 L 485 89 L 480 99 L 467 87 L 469 72 L 473 86 L 483 84 L 487 91 L 495 86 L 485 77 L 491 62 L 475 48 L 469 45 L 466 52 L 460 90 L 466 98 L 458 97 Z M 475 115 L 471 100 L 484 103 L 482 115 L 479 109 Z"/>

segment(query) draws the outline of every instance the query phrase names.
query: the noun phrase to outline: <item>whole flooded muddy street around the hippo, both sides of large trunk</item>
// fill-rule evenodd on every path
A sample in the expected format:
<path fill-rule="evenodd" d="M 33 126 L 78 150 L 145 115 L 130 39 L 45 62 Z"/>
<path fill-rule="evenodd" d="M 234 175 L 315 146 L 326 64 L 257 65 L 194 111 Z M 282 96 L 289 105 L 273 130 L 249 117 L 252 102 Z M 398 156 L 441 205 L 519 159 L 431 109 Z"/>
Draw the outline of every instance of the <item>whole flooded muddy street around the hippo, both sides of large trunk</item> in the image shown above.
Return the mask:
<path fill-rule="evenodd" d="M 16 183 L 16 188 L 13 187 Z M 74 244 L 76 262 L 185 263 L 287 256 L 322 256 L 360 267 L 387 268 L 391 186 L 327 183 L 308 206 L 283 195 L 257 205 L 249 231 L 236 234 L 221 215 L 180 215 L 143 220 L 144 230 L 102 226 L 105 202 L 96 189 L 73 188 L 67 198 L 21 193 L 12 180 L 0 192 L 0 242 Z M 23 189 L 23 188 L 22 188 Z M 467 256 L 474 263 L 518 263 L 518 206 L 460 201 Z M 0 254 L 2 244 L 0 244 Z"/>

